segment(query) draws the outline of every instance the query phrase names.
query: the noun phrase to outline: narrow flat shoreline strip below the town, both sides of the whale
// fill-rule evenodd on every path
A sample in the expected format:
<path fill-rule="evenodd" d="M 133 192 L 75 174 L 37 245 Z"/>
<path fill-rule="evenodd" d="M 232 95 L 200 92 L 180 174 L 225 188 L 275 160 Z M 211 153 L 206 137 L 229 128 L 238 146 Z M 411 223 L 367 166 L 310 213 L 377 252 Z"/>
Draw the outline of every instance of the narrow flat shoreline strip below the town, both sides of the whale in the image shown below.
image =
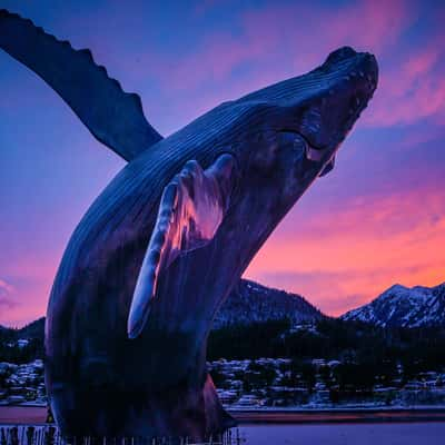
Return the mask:
<path fill-rule="evenodd" d="M 357 424 L 445 422 L 445 406 L 365 408 L 257 408 L 227 409 L 239 425 L 258 424 Z M 0 406 L 0 426 L 46 425 L 42 406 Z"/>

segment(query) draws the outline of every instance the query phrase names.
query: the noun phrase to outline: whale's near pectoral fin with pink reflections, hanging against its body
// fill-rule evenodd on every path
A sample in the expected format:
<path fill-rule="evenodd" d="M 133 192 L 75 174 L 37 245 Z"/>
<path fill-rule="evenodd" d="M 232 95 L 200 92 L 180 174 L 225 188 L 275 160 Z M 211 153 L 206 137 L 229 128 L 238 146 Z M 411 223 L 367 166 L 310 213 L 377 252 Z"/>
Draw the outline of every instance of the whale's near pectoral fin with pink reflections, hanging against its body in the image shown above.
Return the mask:
<path fill-rule="evenodd" d="M 128 336 L 142 330 L 160 273 L 181 254 L 206 246 L 215 236 L 229 206 L 235 159 L 221 155 L 208 169 L 195 160 L 166 186 L 155 229 L 139 271 L 128 317 Z"/>

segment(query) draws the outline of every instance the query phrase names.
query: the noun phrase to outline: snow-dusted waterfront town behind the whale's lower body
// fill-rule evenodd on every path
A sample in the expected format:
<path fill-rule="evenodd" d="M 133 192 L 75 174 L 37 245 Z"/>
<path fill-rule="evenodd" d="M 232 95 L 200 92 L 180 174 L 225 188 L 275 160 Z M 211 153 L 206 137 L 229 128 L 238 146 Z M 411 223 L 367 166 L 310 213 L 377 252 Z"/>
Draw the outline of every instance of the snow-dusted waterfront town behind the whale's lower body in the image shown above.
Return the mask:
<path fill-rule="evenodd" d="M 208 363 L 218 395 L 230 409 L 417 407 L 445 405 L 445 373 L 424 372 L 406 379 L 375 376 L 372 385 L 345 384 L 336 359 L 218 359 Z M 43 362 L 0 363 L 1 405 L 47 405 Z"/>

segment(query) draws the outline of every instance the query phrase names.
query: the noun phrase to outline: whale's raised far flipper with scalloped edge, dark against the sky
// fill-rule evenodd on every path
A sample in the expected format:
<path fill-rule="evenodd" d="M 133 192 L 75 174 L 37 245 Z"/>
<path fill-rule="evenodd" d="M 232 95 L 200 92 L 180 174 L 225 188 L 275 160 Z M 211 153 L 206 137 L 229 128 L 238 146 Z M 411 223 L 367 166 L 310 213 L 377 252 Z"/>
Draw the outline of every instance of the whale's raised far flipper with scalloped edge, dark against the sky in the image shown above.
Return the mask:
<path fill-rule="evenodd" d="M 40 76 L 71 107 L 91 134 L 126 160 L 162 137 L 144 116 L 140 98 L 122 90 L 87 49 L 0 9 L 0 48 Z"/>

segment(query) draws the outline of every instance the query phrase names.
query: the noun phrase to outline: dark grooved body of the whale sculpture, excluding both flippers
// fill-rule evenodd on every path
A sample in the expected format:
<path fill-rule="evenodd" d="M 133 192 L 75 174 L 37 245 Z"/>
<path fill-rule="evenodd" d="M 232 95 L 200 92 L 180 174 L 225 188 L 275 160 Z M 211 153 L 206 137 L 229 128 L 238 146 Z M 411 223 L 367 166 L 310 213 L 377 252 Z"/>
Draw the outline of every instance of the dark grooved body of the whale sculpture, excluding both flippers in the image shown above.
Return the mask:
<path fill-rule="evenodd" d="M 376 85 L 375 58 L 342 48 L 305 76 L 216 107 L 116 176 L 75 230 L 48 306 L 46 383 L 63 434 L 201 438 L 233 424 L 206 369 L 215 314 L 286 212 L 333 167 Z M 164 190 L 187 161 L 211 169 L 225 154 L 237 180 L 224 215 L 208 210 L 217 211 L 206 230 L 215 235 L 199 248 L 186 236 L 175 248 L 158 270 L 147 323 L 130 339 Z"/>

